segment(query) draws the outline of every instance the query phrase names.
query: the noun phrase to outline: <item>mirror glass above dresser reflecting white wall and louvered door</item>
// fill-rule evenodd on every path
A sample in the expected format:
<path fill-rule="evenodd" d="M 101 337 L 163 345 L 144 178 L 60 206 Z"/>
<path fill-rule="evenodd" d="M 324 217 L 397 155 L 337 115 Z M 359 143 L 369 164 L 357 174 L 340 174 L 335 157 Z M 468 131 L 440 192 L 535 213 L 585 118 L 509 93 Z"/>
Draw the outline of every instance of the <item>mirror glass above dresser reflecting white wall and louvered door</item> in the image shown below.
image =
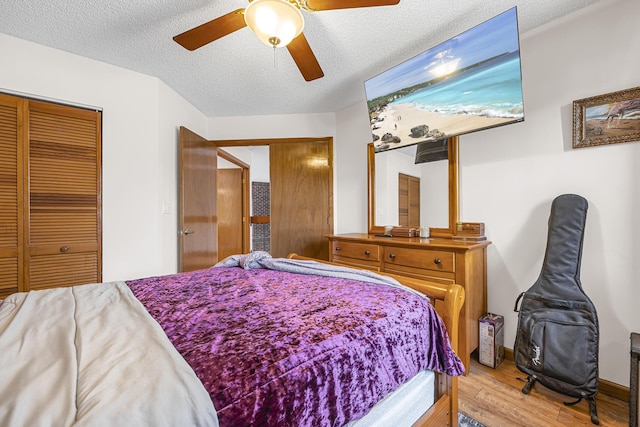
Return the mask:
<path fill-rule="evenodd" d="M 415 164 L 417 147 L 376 153 L 376 225 L 449 226 L 448 162 Z"/>

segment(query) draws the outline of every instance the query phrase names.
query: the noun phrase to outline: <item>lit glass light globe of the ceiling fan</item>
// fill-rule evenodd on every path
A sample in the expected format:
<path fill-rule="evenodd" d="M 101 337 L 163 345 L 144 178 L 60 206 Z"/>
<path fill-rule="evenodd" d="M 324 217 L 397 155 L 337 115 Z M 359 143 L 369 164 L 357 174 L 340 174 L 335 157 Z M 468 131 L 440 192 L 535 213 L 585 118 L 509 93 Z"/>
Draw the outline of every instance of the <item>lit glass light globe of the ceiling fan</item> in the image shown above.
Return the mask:
<path fill-rule="evenodd" d="M 244 20 L 269 47 L 288 45 L 304 28 L 302 12 L 287 0 L 253 0 L 245 9 Z"/>

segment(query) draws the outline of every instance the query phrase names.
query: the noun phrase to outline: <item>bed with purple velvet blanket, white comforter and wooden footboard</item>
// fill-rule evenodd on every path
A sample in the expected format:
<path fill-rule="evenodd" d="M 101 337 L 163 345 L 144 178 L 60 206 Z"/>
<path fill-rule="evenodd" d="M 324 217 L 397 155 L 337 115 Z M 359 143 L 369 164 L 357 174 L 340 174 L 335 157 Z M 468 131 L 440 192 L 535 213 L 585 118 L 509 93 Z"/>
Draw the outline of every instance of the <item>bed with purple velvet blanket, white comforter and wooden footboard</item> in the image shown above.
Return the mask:
<path fill-rule="evenodd" d="M 457 425 L 460 286 L 258 255 L 9 296 L 0 425 Z"/>

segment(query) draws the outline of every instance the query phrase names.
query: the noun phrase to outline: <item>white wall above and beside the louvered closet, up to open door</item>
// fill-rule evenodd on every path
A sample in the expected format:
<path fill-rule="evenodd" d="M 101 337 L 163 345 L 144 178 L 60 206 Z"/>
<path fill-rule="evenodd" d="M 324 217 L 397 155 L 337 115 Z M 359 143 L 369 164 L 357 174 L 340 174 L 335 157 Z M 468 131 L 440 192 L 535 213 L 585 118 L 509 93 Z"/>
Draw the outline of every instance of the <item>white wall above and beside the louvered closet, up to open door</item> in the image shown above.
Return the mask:
<path fill-rule="evenodd" d="M 175 272 L 177 129 L 204 115 L 155 77 L 2 34 L 0 51 L 0 90 L 103 111 L 103 280 Z"/>

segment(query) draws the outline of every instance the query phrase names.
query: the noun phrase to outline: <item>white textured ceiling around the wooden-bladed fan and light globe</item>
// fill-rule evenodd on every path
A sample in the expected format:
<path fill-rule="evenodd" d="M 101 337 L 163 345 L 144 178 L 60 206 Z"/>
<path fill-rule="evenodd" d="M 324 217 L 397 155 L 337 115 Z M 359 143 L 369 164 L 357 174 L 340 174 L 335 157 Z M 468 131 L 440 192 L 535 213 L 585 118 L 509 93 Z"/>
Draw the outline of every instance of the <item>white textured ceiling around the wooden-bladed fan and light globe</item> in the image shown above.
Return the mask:
<path fill-rule="evenodd" d="M 248 28 L 190 52 L 172 39 L 246 0 L 2 0 L 0 33 L 156 76 L 207 116 L 339 111 L 364 80 L 518 7 L 520 33 L 598 0 L 400 0 L 303 12 L 325 76 L 306 82 L 286 49 Z M 275 55 L 274 55 L 275 53 Z"/>

